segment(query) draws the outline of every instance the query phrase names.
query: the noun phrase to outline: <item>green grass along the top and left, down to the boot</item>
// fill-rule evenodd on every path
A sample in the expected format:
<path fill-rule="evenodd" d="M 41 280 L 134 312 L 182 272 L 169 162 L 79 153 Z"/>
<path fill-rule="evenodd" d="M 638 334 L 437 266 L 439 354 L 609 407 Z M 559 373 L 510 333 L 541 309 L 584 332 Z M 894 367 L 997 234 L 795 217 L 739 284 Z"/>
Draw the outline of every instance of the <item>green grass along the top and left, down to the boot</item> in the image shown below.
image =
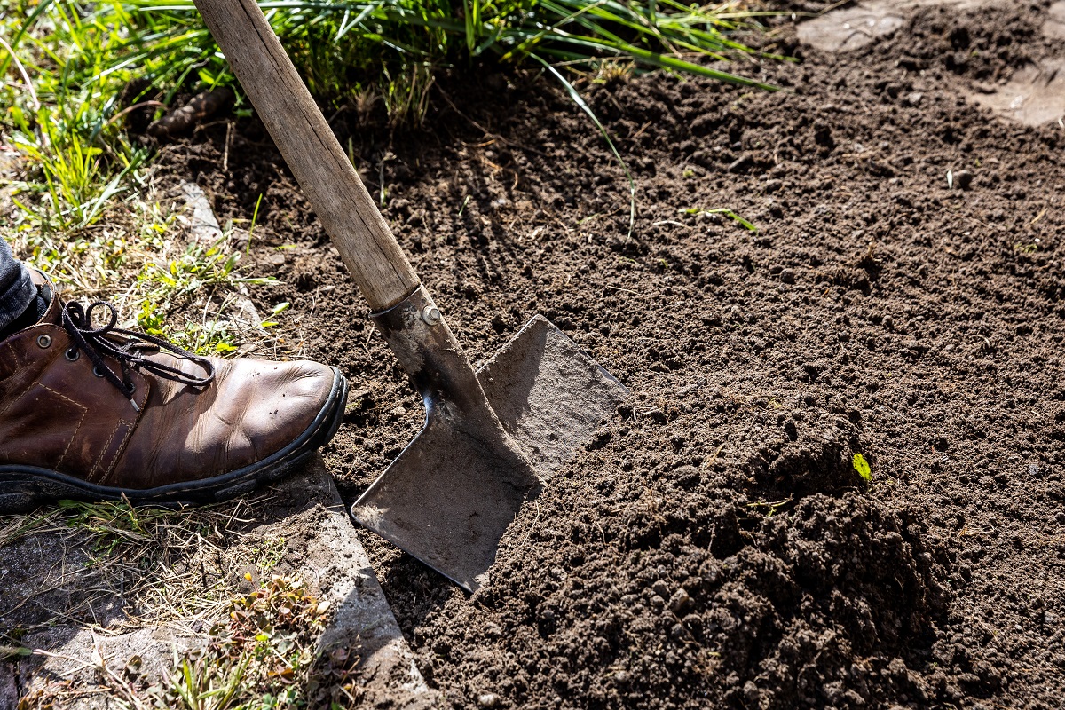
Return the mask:
<path fill-rule="evenodd" d="M 639 65 L 771 88 L 721 68 L 722 60 L 756 54 L 732 34 L 756 27 L 760 13 L 728 2 L 264 0 L 261 6 L 312 93 L 328 104 L 367 111 L 379 101 L 394 125 L 417 125 L 439 70 L 526 63 L 566 89 L 623 166 L 574 87 L 574 72 L 605 81 Z M 124 288 L 132 312 L 126 315 L 148 332 L 200 352 L 236 350 L 240 326 L 222 312 L 236 288 L 263 281 L 239 274 L 237 254 L 225 244 L 168 253 L 174 210 L 146 194 L 150 151 L 124 127 L 134 106 L 160 114 L 178 90 L 235 85 L 192 2 L 0 0 L 0 135 L 18 154 L 17 179 L 0 181 L 0 192 L 10 194 L 0 237 L 75 295 L 114 296 L 134 279 L 133 288 Z M 248 113 L 240 94 L 236 113 Z M 630 230 L 635 187 L 629 176 Z M 218 298 L 212 307 L 209 297 L 209 308 L 193 318 L 186 307 L 204 290 Z"/>

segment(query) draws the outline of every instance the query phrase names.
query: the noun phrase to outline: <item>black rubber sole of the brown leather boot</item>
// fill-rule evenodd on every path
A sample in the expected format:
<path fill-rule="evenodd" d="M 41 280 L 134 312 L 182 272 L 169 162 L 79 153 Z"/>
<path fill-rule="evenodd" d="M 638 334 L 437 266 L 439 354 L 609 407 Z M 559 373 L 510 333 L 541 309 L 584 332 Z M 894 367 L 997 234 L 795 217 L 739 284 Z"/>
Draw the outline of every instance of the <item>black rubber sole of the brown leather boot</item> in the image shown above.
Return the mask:
<path fill-rule="evenodd" d="M 337 434 L 347 403 L 347 380 L 335 367 L 332 370 L 329 398 L 311 426 L 291 444 L 250 466 L 198 481 L 136 490 L 95 485 L 35 466 L 0 465 L 0 514 L 28 512 L 56 500 L 101 501 L 125 497 L 141 505 L 206 505 L 251 493 L 304 466 Z"/>

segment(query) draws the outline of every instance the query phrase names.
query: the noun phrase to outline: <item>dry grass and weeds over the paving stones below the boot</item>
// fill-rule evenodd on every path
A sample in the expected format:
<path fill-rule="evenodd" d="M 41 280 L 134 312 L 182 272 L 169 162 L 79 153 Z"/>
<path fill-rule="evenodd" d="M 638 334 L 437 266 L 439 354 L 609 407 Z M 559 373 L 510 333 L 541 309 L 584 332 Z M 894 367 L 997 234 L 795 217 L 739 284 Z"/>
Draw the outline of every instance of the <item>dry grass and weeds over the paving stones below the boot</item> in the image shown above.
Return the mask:
<path fill-rule="evenodd" d="M 64 558 L 26 598 L 0 604 L 0 618 L 17 618 L 20 609 L 42 599 L 46 608 L 70 599 L 68 606 L 48 609 L 54 618 L 36 627 L 0 625 L 0 661 L 37 655 L 80 670 L 76 678 L 40 677 L 20 710 L 69 707 L 93 696 L 105 697 L 108 707 L 134 710 L 354 707 L 357 649 L 320 654 L 316 643 L 329 618 L 328 605 L 299 578 L 268 574 L 281 561 L 285 541 L 256 534 L 250 513 L 271 495 L 175 509 L 137 508 L 125 500 L 64 501 L 26 516 L 0 516 L 0 549 L 54 545 Z M 70 550 L 80 555 L 71 554 L 68 561 Z M 234 596 L 251 579 L 242 573 L 252 568 L 265 581 L 250 594 Z M 56 591 L 77 593 L 52 594 Z M 109 599 L 121 599 L 124 615 L 97 623 L 94 607 Z M 118 663 L 96 643 L 92 658 L 22 645 L 27 633 L 56 622 L 87 629 L 94 640 L 168 627 L 201 641 L 196 650 L 175 656 L 167 677 L 148 678 L 137 657 Z M 86 681 L 85 672 L 95 680 Z"/>

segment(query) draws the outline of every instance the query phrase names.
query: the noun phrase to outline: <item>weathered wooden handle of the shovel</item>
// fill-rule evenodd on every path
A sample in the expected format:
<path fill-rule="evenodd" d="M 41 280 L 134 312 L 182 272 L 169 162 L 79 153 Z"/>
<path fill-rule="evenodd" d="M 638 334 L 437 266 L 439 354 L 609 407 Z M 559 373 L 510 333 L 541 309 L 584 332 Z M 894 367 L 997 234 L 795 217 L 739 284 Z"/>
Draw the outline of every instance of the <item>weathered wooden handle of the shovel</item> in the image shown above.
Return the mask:
<path fill-rule="evenodd" d="M 194 0 L 374 311 L 417 276 L 255 0 Z"/>

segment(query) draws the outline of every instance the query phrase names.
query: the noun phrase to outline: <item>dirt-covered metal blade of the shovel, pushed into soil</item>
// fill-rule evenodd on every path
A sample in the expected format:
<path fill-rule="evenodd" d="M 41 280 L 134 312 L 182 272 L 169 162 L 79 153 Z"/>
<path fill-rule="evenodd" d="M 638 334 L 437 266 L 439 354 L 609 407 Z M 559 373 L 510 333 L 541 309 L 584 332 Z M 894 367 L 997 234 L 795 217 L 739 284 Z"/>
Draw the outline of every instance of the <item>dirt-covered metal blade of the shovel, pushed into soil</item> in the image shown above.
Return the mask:
<path fill-rule="evenodd" d="M 484 390 L 494 425 L 425 395 L 425 428 L 351 508 L 360 524 L 470 592 L 486 582 L 522 503 L 628 397 L 542 316 L 476 379 L 480 387 L 464 390 Z"/>

